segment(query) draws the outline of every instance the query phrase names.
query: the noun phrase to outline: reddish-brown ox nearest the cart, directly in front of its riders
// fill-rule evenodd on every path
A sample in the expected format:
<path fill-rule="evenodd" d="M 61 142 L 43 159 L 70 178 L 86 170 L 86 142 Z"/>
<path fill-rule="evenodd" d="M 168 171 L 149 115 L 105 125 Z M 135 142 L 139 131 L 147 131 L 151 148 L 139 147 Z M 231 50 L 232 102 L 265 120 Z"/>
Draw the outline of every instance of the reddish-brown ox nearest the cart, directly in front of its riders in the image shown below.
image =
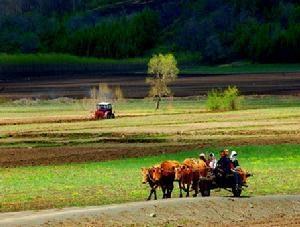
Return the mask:
<path fill-rule="evenodd" d="M 207 174 L 207 165 L 202 160 L 185 159 L 183 165 L 176 168 L 175 179 L 179 181 L 179 196 L 182 197 L 182 190 L 186 192 L 186 197 L 189 197 L 190 186 L 195 191 L 193 194 L 196 197 L 199 193 L 199 180 Z"/>

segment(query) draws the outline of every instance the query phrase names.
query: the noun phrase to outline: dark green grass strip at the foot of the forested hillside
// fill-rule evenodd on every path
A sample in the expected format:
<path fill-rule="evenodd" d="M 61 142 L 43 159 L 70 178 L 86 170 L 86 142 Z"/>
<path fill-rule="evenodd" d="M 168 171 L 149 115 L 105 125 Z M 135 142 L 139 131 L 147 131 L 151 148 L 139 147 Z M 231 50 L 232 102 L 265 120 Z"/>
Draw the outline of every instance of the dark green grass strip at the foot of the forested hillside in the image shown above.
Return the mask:
<path fill-rule="evenodd" d="M 300 64 L 254 64 L 248 62 L 234 62 L 224 65 L 198 65 L 195 63 L 194 57 L 178 54 L 177 61 L 180 72 L 186 74 L 238 74 L 238 73 L 276 73 L 276 72 L 300 72 Z M 0 54 L 0 65 L 5 67 L 26 67 L 39 66 L 43 69 L 45 66 L 55 65 L 59 68 L 72 66 L 78 67 L 101 67 L 113 70 L 117 67 L 138 71 L 143 69 L 146 72 L 146 66 L 149 57 L 128 58 L 128 59 L 109 59 L 109 58 L 93 58 L 93 57 L 77 57 L 67 54 Z M 10 69 L 11 70 L 11 69 Z"/>

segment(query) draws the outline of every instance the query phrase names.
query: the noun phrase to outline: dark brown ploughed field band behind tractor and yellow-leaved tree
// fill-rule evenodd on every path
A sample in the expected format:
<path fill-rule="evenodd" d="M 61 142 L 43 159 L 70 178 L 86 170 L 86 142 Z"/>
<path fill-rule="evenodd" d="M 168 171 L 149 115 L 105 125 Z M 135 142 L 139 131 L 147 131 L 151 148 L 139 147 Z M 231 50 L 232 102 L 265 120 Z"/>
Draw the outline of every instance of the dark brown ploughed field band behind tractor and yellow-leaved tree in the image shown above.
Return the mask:
<path fill-rule="evenodd" d="M 55 98 L 88 97 L 90 89 L 99 83 L 120 85 L 127 98 L 147 96 L 145 74 L 92 75 L 33 78 L 25 81 L 0 81 L 0 97 L 8 98 Z M 171 85 L 175 96 L 206 94 L 212 88 L 236 85 L 243 94 L 299 94 L 300 73 L 232 74 L 232 75 L 181 75 Z"/>

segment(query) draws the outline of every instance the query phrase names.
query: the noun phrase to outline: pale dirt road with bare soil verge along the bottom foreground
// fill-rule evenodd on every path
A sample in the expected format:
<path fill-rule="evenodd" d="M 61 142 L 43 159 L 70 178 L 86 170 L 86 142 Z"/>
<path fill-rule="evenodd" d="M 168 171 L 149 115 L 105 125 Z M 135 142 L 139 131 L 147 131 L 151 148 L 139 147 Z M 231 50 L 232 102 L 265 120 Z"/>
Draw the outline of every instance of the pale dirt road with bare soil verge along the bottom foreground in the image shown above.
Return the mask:
<path fill-rule="evenodd" d="M 0 226 L 300 226 L 300 195 L 210 197 L 0 214 Z"/>

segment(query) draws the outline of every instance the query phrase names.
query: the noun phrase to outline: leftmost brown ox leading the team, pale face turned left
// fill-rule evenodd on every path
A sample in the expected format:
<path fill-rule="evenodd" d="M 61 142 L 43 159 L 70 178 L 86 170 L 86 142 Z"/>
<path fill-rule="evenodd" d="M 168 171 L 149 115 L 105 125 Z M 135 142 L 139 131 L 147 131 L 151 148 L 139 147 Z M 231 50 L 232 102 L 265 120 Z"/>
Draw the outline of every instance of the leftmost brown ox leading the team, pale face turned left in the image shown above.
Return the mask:
<path fill-rule="evenodd" d="M 150 200 L 152 194 L 154 199 L 157 199 L 156 189 L 160 186 L 161 168 L 160 166 L 153 166 L 151 168 L 142 168 L 142 183 L 148 183 L 150 186 L 150 193 L 147 200 Z"/>

